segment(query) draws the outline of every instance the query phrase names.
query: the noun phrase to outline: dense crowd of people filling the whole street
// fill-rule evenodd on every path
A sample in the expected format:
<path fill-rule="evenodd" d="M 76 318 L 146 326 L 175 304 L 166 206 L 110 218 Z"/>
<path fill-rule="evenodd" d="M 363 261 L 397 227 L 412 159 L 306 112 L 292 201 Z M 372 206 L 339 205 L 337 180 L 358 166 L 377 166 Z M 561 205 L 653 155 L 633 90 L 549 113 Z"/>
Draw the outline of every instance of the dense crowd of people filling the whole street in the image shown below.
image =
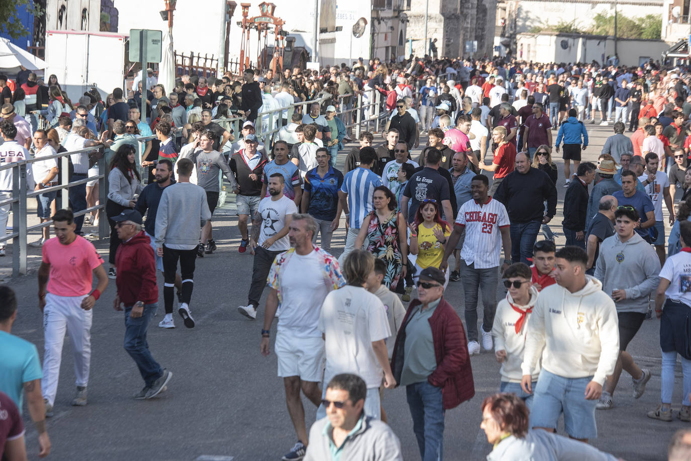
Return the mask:
<path fill-rule="evenodd" d="M 691 372 L 681 407 L 671 408 L 677 355 L 691 370 L 691 74 L 683 69 L 411 57 L 279 75 L 248 69 L 242 79 L 184 76 L 171 93 L 152 70 L 129 97 L 115 88 L 103 102 L 91 91 L 76 106 L 54 77 L 44 85 L 28 73 L 17 88 L 45 87 L 35 93 L 49 98 L 22 106 L 12 104 L 0 75 L 6 162 L 84 151 L 68 157 L 68 171 L 57 159 L 33 163 L 27 181 L 48 189 L 37 197 L 37 214 L 55 232 L 50 238 L 43 229 L 32 242 L 42 252 L 42 367 L 35 346 L 11 335 L 16 297 L 0 288 L 0 405 L 21 408 L 26 395 L 41 455 L 50 451 L 45 418 L 53 415 L 66 333 L 75 357 L 72 403 L 88 403 L 91 309 L 108 279 L 117 287 L 113 308 L 124 310 L 124 348 L 144 381 L 134 398 L 167 390 L 171 370 L 146 342 L 158 306 L 156 271 L 164 279 L 158 326 L 176 328 L 177 307 L 184 326 L 195 328 L 196 260 L 217 250 L 212 220 L 224 189 L 234 194 L 237 250 L 252 256 L 247 305 L 238 313 L 256 320 L 269 288 L 260 351 L 269 355 L 275 332 L 297 439 L 285 461 L 401 460 L 382 402 L 396 386 L 406 387 L 420 457 L 442 460 L 445 411 L 475 395 L 471 357 L 482 350 L 500 364 L 500 393 L 478 408 L 493 444 L 489 460 L 615 459 L 587 442 L 597 437 L 596 410 L 615 407 L 622 370 L 634 399 L 645 392 L 652 373 L 626 349 L 653 312 L 661 322 L 662 391 L 647 416 L 691 420 Z M 346 152 L 352 111 L 377 113 L 364 106 L 374 91 L 386 96 L 384 140 L 377 146 L 375 133 L 362 130 L 359 147 Z M 295 105 L 315 99 L 305 113 Z M 598 112 L 601 125 L 614 122 L 614 134 L 597 162 L 585 162 Z M 241 117 L 240 133 L 232 117 Z M 275 133 L 258 137 L 267 130 Z M 550 227 L 559 153 L 560 248 Z M 107 203 L 80 214 L 97 203 L 97 182 L 88 178 L 100 156 Z M 0 199 L 11 196 L 7 171 Z M 68 204 L 57 203 L 53 189 L 61 175 L 83 181 L 70 187 Z M 8 214 L 0 207 L 2 229 Z M 107 271 L 85 238 L 99 219 L 111 226 Z M 500 279 L 506 290 L 498 297 Z M 444 297 L 458 281 L 464 299 Z M 301 395 L 314 404 L 311 430 Z M 21 417 L 16 408 L 10 413 L 15 423 L 3 447 L 9 460 L 22 460 Z M 571 440 L 554 434 L 561 415 Z M 691 451 L 685 437 L 673 440 L 670 459 Z"/>

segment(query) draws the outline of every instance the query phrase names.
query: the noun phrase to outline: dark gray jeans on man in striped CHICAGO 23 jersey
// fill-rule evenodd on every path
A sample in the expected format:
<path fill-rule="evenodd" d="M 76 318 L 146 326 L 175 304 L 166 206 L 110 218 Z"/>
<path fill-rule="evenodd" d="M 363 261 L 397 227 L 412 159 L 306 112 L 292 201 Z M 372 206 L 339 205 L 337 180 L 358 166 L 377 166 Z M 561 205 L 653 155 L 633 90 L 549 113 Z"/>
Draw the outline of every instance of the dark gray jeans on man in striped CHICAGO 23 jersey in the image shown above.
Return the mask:
<path fill-rule="evenodd" d="M 482 290 L 482 326 L 486 332 L 492 331 L 494 314 L 497 311 L 498 267 L 475 269 L 475 263 L 461 262 L 461 280 L 465 297 L 466 332 L 468 341 L 477 341 L 477 288 Z"/>

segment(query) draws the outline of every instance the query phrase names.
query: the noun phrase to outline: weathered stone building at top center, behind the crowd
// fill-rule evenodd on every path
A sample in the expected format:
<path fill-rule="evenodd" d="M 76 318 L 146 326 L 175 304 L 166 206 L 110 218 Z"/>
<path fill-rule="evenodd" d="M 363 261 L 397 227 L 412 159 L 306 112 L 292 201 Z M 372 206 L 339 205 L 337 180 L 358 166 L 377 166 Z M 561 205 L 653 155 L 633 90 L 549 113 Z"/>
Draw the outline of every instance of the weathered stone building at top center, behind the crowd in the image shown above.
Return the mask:
<path fill-rule="evenodd" d="M 413 53 L 425 53 L 425 9 L 427 37 L 437 39 L 440 56 L 466 57 L 466 41 L 477 41 L 475 57 L 492 55 L 496 0 L 410 0 L 408 37 Z"/>

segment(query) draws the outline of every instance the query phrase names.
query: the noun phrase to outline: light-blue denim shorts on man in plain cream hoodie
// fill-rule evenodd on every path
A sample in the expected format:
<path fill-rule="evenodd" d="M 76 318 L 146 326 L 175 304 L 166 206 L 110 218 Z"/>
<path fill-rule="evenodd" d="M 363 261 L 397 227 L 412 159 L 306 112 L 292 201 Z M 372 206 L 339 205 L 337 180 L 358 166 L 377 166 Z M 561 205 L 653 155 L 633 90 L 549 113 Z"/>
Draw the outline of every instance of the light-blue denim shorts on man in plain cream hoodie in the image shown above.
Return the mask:
<path fill-rule="evenodd" d="M 585 399 L 585 388 L 592 379 L 565 378 L 543 368 L 538 385 L 533 386 L 535 397 L 530 426 L 556 429 L 559 416 L 564 413 L 564 428 L 571 438 L 597 438 L 595 406 L 598 400 Z"/>

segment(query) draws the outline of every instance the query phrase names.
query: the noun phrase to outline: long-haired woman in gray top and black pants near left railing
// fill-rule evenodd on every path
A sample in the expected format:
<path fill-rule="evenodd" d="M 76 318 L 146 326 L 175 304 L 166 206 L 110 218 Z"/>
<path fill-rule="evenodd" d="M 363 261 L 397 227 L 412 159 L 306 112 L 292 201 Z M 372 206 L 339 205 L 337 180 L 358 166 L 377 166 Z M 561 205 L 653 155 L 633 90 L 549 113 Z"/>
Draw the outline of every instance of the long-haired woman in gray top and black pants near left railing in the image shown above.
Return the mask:
<path fill-rule="evenodd" d="M 108 278 L 115 279 L 115 252 L 120 246 L 117 238 L 115 221 L 113 218 L 126 209 L 133 209 L 137 196 L 142 191 L 142 177 L 135 163 L 136 149 L 131 144 L 123 144 L 115 152 L 115 157 L 109 165 L 108 200 L 106 201 L 106 216 L 111 225 L 111 245 L 108 249 Z"/>

